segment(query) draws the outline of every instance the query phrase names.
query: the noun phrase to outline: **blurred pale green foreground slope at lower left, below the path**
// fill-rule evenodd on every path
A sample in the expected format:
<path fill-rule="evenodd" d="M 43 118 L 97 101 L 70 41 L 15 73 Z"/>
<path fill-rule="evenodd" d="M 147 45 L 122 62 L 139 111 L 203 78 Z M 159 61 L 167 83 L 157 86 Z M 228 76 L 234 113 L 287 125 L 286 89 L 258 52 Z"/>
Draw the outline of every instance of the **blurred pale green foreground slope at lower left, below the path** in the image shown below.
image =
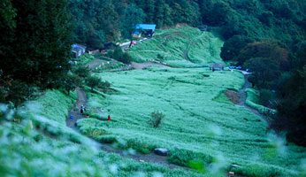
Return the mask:
<path fill-rule="evenodd" d="M 0 176 L 203 176 L 98 151 L 95 143 L 65 127 L 75 98 L 75 92 L 68 97 L 58 90 L 47 91 L 19 111 L 21 124 L 3 120 L 5 109 L 0 105 Z M 29 128 L 29 119 L 36 129 Z"/>

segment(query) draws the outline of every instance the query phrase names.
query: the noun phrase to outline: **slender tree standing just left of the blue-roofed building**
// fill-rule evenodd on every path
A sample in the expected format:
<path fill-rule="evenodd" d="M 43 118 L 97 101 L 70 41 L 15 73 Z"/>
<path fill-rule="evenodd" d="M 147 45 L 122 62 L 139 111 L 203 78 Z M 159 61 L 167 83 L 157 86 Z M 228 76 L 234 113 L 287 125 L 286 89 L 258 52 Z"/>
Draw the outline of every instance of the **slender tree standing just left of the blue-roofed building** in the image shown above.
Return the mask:
<path fill-rule="evenodd" d="M 142 23 L 145 14 L 142 9 L 137 8 L 135 4 L 130 4 L 125 11 L 125 15 L 122 19 L 122 34 L 124 37 L 131 40 L 129 47 L 133 42 L 133 34 L 137 30 L 136 25 Z"/>

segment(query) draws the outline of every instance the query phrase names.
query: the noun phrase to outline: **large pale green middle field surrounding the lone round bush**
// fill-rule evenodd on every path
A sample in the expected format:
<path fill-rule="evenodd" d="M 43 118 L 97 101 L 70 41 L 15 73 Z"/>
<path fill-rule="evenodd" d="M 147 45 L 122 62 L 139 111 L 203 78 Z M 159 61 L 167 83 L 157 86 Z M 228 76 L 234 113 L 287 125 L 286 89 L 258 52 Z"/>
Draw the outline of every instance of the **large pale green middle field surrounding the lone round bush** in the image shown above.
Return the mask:
<path fill-rule="evenodd" d="M 290 169 L 306 158 L 305 149 L 285 147 L 280 140 L 265 135 L 267 125 L 244 107 L 212 101 L 222 90 L 242 87 L 239 72 L 151 68 L 100 76 L 112 81 L 119 93 L 106 99 L 90 97 L 89 106 L 104 108 L 105 115 L 111 114 L 116 121 L 84 119 L 80 127 L 103 127 L 124 140 L 136 139 L 172 151 L 180 148 L 212 157 L 222 154 L 228 162 L 254 165 L 249 167 L 254 169 L 260 165 L 269 173 L 293 173 Z M 148 123 L 150 112 L 155 110 L 165 114 L 157 129 Z M 285 151 L 280 153 L 279 149 Z"/>

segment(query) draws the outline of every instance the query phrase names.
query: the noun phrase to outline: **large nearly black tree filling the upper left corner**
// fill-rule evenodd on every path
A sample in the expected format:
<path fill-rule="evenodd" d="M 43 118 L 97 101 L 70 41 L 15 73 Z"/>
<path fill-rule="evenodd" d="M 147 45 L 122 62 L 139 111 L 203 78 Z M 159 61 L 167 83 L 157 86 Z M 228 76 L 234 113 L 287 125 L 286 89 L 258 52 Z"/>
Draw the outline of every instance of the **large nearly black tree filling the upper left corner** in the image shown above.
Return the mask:
<path fill-rule="evenodd" d="M 70 66 L 72 23 L 67 1 L 12 0 L 11 5 L 17 16 L 15 27 L 5 33 L 9 36 L 1 40 L 0 69 L 28 85 L 58 87 Z"/>

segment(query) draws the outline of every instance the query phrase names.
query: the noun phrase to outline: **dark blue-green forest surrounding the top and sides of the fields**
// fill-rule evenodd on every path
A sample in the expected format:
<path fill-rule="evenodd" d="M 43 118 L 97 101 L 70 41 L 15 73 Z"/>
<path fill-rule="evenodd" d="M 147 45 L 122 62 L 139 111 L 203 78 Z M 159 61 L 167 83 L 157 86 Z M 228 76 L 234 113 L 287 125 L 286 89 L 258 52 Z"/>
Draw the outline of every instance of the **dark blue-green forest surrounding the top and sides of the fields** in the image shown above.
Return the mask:
<path fill-rule="evenodd" d="M 278 110 L 272 127 L 306 145 L 305 0 L 3 0 L 0 101 L 14 107 L 63 87 L 72 43 L 102 49 L 128 38 L 133 13 L 157 28 L 204 24 L 218 33 L 221 58 L 249 68 L 262 103 Z"/>

